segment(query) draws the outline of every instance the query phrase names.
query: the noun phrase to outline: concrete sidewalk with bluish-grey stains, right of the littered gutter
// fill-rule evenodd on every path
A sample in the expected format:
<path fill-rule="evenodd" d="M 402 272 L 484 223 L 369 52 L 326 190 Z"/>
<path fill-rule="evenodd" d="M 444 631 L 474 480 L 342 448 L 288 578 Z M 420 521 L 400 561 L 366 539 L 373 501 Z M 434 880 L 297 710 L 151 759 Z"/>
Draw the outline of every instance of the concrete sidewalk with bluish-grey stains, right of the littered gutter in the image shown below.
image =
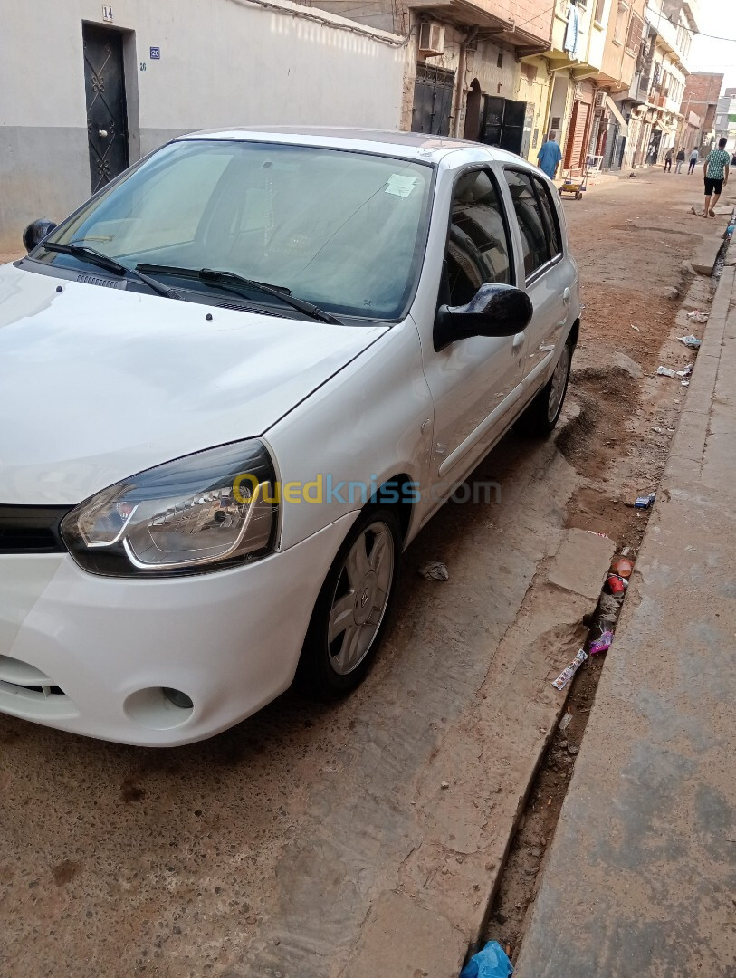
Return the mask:
<path fill-rule="evenodd" d="M 516 978 L 736 976 L 736 302 L 726 266 Z"/>

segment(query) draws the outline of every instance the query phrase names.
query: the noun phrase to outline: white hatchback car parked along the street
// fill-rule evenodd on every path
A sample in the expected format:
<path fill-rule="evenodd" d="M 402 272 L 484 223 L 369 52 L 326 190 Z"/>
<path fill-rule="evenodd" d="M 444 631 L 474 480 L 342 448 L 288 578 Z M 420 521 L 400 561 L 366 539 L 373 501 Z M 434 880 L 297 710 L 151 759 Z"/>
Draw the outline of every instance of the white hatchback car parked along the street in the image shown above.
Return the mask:
<path fill-rule="evenodd" d="M 368 671 L 399 556 L 578 339 L 553 185 L 474 143 L 178 139 L 0 268 L 0 711 L 173 745 Z"/>

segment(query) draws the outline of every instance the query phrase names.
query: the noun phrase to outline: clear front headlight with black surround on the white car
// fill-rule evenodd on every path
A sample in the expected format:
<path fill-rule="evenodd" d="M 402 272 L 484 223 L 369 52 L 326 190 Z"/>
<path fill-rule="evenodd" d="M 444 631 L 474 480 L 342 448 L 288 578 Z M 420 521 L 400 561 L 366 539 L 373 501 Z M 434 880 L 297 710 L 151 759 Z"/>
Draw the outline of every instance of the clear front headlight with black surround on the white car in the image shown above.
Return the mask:
<path fill-rule="evenodd" d="M 69 512 L 69 553 L 96 574 L 219 570 L 273 550 L 276 472 L 263 442 L 240 441 L 148 468 Z"/>

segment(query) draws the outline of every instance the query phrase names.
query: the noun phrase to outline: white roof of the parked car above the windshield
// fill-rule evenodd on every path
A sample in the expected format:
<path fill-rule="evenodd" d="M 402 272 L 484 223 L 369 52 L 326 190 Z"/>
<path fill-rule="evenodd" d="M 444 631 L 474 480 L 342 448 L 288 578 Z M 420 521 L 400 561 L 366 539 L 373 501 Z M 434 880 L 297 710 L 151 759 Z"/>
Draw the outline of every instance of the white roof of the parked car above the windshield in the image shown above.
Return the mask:
<path fill-rule="evenodd" d="M 325 149 L 345 149 L 382 156 L 397 156 L 422 162 L 439 162 L 458 150 L 475 150 L 479 158 L 498 159 L 502 162 L 520 161 L 531 165 L 522 156 L 500 150 L 498 147 L 454 139 L 451 136 L 433 136 L 421 132 L 399 132 L 390 129 L 348 129 L 329 126 L 241 126 L 234 129 L 213 129 L 188 133 L 180 139 L 241 140 L 253 143 L 284 143 L 291 146 L 317 146 Z"/>

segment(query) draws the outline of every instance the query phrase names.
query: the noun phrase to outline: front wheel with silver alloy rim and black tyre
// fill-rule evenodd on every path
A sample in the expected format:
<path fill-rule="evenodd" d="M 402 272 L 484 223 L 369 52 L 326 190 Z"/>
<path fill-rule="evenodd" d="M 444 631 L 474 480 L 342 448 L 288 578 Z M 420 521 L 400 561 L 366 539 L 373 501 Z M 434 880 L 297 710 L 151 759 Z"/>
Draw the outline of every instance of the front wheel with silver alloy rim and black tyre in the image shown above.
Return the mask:
<path fill-rule="evenodd" d="M 359 686 L 380 645 L 396 595 L 402 533 L 396 511 L 370 506 L 332 561 L 307 630 L 296 682 L 319 699 Z"/>

